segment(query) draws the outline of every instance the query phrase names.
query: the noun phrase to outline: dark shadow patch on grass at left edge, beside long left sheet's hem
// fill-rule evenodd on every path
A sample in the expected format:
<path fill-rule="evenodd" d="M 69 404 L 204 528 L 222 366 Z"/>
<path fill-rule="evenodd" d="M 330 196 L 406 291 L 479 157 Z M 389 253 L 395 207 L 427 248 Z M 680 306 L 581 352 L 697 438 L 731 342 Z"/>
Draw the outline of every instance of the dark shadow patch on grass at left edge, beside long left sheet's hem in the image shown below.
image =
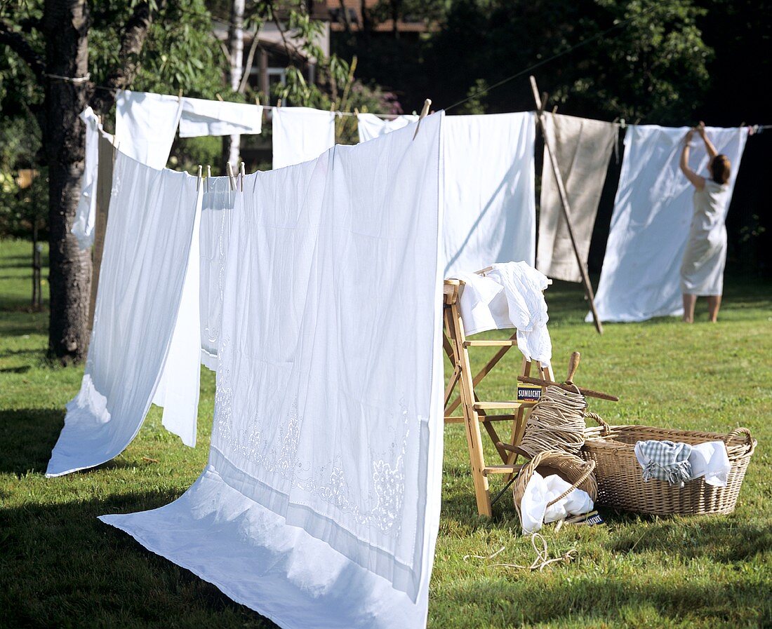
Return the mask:
<path fill-rule="evenodd" d="M 64 425 L 64 409 L 19 408 L 0 411 L 0 472 L 45 473 Z"/>

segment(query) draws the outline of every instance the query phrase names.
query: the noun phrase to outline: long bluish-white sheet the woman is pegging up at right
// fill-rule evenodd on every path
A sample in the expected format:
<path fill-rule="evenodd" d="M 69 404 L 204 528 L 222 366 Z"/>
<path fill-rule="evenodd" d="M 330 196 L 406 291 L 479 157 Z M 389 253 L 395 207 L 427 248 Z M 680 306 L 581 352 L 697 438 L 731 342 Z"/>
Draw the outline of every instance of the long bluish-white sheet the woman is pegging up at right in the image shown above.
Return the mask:
<path fill-rule="evenodd" d="M 644 321 L 683 313 L 681 261 L 692 219 L 694 188 L 679 169 L 687 127 L 631 126 L 625 136 L 619 186 L 595 307 L 601 321 Z M 734 186 L 747 130 L 709 127 L 716 150 L 732 162 Z M 689 164 L 707 176 L 708 157 L 699 137 Z M 591 314 L 587 321 L 591 321 Z"/>

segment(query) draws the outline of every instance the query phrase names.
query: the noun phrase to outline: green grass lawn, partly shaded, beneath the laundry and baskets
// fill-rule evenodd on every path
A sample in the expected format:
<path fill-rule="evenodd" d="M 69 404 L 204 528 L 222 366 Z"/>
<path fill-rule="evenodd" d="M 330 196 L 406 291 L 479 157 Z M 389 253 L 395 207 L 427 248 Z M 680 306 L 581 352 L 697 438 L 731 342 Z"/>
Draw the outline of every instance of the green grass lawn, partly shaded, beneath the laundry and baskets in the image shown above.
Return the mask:
<path fill-rule="evenodd" d="M 165 505 L 196 479 L 214 407 L 208 370 L 195 449 L 161 428 L 153 407 L 112 462 L 43 477 L 82 368 L 46 360 L 48 313 L 29 310 L 31 250 L 0 242 L 0 627 L 273 626 L 97 521 Z M 556 376 L 581 351 L 577 383 L 621 397 L 591 400 L 611 423 L 753 431 L 759 446 L 740 501 L 731 516 L 691 519 L 601 509 L 608 526 L 543 532 L 550 552 L 577 549 L 574 563 L 535 573 L 492 567 L 530 564 L 530 539 L 519 534 L 511 497 L 493 519 L 477 516 L 463 428 L 450 426 L 429 627 L 772 627 L 772 284 L 727 278 L 715 325 L 701 301 L 693 326 L 607 325 L 604 336 L 583 323 L 578 286 L 556 282 L 547 301 Z M 489 378 L 486 398 L 511 394 L 515 353 Z M 463 560 L 502 546 L 496 560 Z"/>

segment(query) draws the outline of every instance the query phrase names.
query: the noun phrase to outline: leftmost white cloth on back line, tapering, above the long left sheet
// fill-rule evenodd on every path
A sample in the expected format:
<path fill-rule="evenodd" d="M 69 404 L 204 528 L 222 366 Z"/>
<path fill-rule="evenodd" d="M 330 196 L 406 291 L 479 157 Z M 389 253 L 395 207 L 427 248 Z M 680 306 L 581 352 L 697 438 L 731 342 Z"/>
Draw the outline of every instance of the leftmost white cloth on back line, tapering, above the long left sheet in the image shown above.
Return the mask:
<path fill-rule="evenodd" d="M 122 90 L 115 98 L 115 143 L 142 164 L 163 168 L 182 113 L 182 99 Z"/>

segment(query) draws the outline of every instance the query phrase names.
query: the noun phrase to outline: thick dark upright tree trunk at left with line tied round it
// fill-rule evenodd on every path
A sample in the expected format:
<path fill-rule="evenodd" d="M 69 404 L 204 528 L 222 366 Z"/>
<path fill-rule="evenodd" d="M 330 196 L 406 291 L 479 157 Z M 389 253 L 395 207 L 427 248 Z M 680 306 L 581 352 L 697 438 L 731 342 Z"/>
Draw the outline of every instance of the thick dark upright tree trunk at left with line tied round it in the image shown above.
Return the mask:
<path fill-rule="evenodd" d="M 81 77 L 88 72 L 89 13 L 85 0 L 46 0 L 46 72 Z M 86 83 L 49 78 L 43 104 L 43 150 L 49 167 L 49 354 L 63 364 L 86 357 L 91 252 L 70 231 L 80 198 L 86 153 L 83 123 Z"/>

